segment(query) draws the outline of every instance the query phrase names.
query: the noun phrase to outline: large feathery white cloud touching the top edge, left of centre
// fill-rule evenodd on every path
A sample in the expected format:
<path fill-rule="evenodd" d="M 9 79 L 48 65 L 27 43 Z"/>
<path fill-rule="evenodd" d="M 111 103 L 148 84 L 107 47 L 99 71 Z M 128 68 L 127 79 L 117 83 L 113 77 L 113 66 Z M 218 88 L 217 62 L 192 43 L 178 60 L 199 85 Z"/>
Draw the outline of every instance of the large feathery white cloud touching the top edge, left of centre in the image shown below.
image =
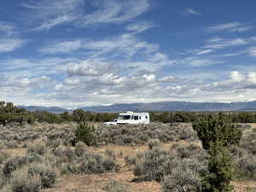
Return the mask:
<path fill-rule="evenodd" d="M 40 23 L 34 30 L 48 30 L 71 21 L 74 26 L 123 23 L 142 15 L 150 7 L 148 0 L 42 0 L 23 3 L 22 6 L 29 10 L 28 19 Z M 87 7 L 91 11 L 85 12 Z"/>

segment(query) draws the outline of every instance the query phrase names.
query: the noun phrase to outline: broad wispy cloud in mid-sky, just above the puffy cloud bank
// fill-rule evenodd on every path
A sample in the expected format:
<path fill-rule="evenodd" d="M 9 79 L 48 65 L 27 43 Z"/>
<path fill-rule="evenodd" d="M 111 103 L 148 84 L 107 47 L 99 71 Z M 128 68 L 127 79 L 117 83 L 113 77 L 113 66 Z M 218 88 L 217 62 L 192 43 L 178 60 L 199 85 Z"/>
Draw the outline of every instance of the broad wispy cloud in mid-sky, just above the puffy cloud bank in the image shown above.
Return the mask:
<path fill-rule="evenodd" d="M 77 51 L 90 60 L 119 61 L 126 67 L 139 67 L 155 70 L 170 62 L 157 44 L 150 44 L 137 38 L 137 33 L 123 33 L 111 38 L 77 39 L 52 42 L 38 51 L 44 54 L 70 54 Z M 78 53 L 78 52 L 76 52 Z"/>

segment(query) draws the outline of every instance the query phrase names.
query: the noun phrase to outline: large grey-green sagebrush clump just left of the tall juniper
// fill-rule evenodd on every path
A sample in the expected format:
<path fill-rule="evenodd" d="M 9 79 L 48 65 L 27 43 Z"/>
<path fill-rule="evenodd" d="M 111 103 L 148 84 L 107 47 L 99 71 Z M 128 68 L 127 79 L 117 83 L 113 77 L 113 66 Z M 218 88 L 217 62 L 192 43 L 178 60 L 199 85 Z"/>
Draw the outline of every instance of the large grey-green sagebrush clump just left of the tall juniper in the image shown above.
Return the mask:
<path fill-rule="evenodd" d="M 133 173 L 140 179 L 160 182 L 163 177 L 172 175 L 177 166 L 183 165 L 187 171 L 200 172 L 204 166 L 205 155 L 203 150 L 195 144 L 184 146 L 180 143 L 169 151 L 152 147 L 148 151 L 137 154 Z M 127 158 L 126 161 L 128 160 Z"/>

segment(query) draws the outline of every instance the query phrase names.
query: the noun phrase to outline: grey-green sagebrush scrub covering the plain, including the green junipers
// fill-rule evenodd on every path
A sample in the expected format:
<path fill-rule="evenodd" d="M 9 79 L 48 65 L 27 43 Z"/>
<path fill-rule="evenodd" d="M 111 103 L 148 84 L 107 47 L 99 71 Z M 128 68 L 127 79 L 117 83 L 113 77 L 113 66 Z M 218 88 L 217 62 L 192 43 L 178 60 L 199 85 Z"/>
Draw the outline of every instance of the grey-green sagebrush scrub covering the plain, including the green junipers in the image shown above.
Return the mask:
<path fill-rule="evenodd" d="M 103 126 L 83 119 L 79 124 L 0 125 L 0 191 L 40 191 L 64 175 L 124 169 L 133 172 L 134 181 L 160 183 L 164 192 L 212 192 L 211 170 L 218 171 L 217 167 L 224 167 L 223 175 L 215 173 L 227 179 L 228 188 L 215 191 L 230 191 L 230 180 L 256 181 L 256 129 L 231 124 L 226 116 L 223 121 L 217 114 L 211 118 L 195 119 L 193 124 Z M 128 155 L 112 149 L 126 146 L 144 149 Z M 132 191 L 120 181 L 103 185 L 105 191 Z"/>

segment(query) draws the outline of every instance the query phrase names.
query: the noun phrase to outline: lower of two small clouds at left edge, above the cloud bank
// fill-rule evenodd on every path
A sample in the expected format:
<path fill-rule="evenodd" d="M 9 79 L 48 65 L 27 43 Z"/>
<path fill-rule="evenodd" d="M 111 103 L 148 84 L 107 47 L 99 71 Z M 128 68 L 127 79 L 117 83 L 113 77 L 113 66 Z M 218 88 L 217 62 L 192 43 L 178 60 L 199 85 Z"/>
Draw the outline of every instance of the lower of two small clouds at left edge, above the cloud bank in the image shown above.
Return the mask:
<path fill-rule="evenodd" d="M 19 49 L 24 44 L 26 44 L 26 40 L 20 38 L 0 38 L 0 53 Z"/>

